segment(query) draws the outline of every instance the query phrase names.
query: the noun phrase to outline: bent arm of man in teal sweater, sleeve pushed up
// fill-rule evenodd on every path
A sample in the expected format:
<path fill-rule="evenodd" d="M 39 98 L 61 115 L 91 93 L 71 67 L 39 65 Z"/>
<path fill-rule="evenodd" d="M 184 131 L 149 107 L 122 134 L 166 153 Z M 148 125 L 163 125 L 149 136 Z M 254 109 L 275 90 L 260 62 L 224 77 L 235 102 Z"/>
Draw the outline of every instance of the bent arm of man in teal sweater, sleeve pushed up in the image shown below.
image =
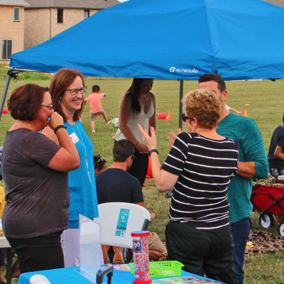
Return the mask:
<path fill-rule="evenodd" d="M 243 178 L 267 178 L 269 168 L 263 138 L 252 119 L 244 125 L 239 147 L 244 151 L 246 162 L 239 162 L 239 170 L 236 174 Z"/>

